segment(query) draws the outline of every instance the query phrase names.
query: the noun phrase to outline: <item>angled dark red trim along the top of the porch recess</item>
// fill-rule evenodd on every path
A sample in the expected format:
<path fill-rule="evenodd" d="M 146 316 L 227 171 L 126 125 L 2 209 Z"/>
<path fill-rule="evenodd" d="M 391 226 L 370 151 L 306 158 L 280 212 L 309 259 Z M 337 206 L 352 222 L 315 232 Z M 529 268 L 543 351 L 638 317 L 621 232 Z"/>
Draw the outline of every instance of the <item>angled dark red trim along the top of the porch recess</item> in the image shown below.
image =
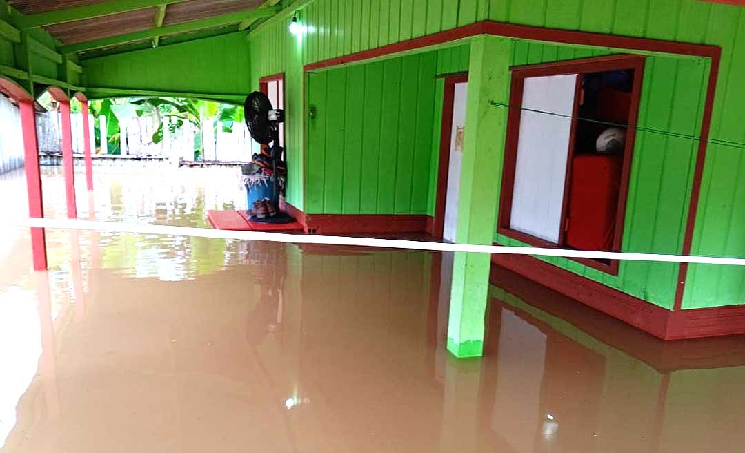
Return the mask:
<path fill-rule="evenodd" d="M 440 33 L 414 38 L 412 40 L 393 43 L 343 57 L 330 58 L 303 66 L 304 71 L 327 69 L 372 58 L 386 57 L 405 51 L 423 49 L 429 46 L 449 43 L 479 34 L 489 34 L 500 37 L 520 38 L 524 40 L 549 41 L 554 43 L 578 44 L 583 46 L 612 47 L 615 49 L 629 49 L 636 51 L 653 51 L 668 54 L 697 55 L 713 57 L 715 46 L 693 43 L 676 43 L 673 41 L 653 40 L 649 38 L 626 37 L 615 34 L 590 33 L 587 31 L 559 30 L 557 28 L 531 27 L 530 25 L 515 25 L 505 22 L 483 21 L 463 27 L 453 28 Z"/>

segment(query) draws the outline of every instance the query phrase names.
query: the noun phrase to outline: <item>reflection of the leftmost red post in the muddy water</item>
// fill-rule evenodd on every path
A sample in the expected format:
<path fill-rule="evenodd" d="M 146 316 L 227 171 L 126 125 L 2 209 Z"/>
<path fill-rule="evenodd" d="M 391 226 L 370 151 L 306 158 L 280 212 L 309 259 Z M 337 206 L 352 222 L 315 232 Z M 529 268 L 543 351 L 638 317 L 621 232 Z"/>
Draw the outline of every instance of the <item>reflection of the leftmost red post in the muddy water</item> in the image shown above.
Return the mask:
<path fill-rule="evenodd" d="M 37 272 L 37 298 L 39 305 L 39 327 L 42 331 L 42 355 L 39 357 L 39 375 L 42 376 L 44 399 L 50 419 L 60 414 L 60 395 L 57 392 L 57 359 L 54 345 L 54 322 L 51 319 L 51 294 L 49 276 L 46 272 Z"/>

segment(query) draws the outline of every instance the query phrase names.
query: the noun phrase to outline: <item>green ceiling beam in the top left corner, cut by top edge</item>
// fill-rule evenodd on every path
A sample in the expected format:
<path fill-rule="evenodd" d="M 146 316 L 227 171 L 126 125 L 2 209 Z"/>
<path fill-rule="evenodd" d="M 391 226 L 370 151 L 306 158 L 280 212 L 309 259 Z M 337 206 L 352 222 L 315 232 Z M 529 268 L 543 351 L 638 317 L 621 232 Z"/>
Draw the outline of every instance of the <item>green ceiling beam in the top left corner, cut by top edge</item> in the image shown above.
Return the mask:
<path fill-rule="evenodd" d="M 87 4 L 65 8 L 63 10 L 47 11 L 18 16 L 21 28 L 44 27 L 46 25 L 75 22 L 76 20 L 93 19 L 95 17 L 110 16 L 111 14 L 126 13 L 127 11 L 160 7 L 165 4 L 181 3 L 188 0 L 109 0 L 103 3 Z"/>

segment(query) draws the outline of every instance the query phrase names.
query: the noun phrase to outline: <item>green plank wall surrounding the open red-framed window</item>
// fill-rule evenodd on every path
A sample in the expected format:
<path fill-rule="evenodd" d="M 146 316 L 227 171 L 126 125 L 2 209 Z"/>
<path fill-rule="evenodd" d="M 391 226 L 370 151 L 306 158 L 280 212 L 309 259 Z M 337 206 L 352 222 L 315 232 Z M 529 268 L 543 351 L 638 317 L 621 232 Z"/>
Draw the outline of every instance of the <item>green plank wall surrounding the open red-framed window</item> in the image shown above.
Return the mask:
<path fill-rule="evenodd" d="M 597 57 L 605 49 L 574 49 L 516 40 L 513 66 Z M 647 57 L 639 106 L 623 252 L 679 254 L 682 251 L 688 194 L 693 181 L 697 140 L 703 116 L 708 65 L 700 58 Z M 673 108 L 674 106 L 674 108 Z M 659 131 L 673 131 L 676 137 Z M 495 234 L 504 245 L 522 243 Z M 632 296 L 672 308 L 679 265 L 621 261 L 618 276 L 573 260 L 542 258 Z"/>

